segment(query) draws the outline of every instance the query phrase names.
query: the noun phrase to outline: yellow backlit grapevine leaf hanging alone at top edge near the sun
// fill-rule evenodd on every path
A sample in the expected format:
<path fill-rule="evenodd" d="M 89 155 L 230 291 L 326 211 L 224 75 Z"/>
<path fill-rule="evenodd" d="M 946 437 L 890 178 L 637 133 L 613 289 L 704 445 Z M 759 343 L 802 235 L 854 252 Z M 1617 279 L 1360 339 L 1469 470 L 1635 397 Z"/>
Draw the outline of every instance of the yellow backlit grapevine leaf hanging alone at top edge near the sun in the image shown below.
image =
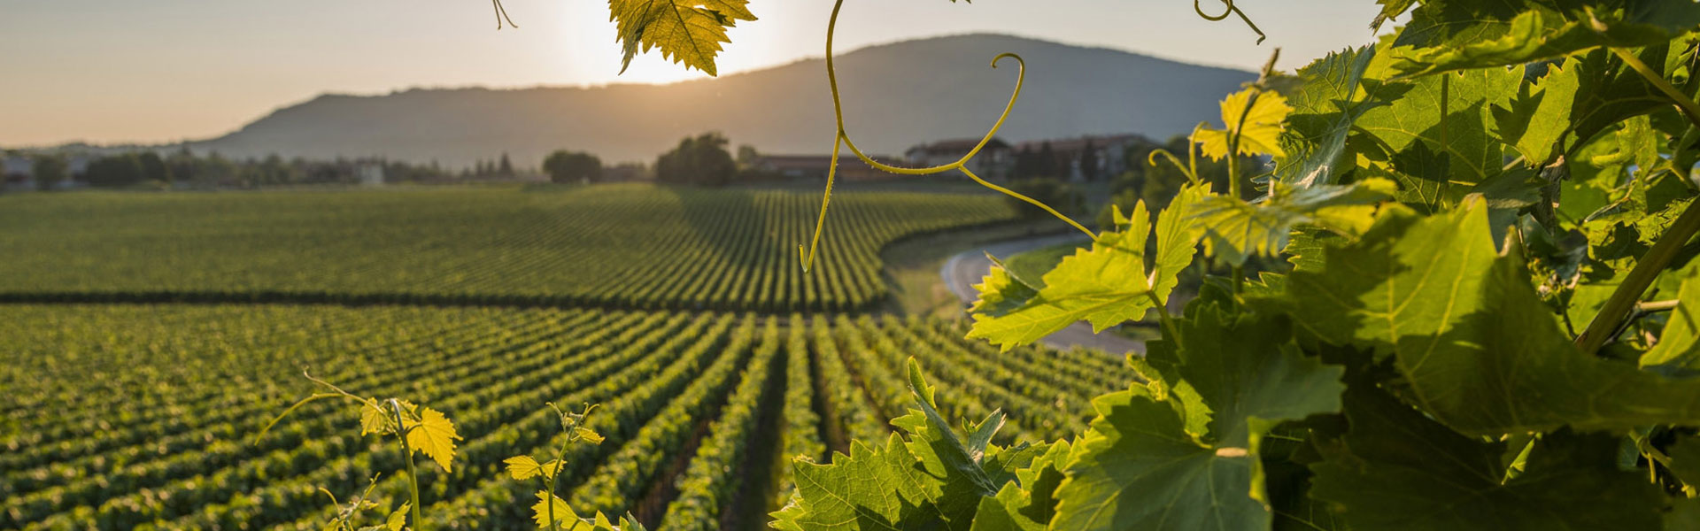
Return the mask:
<path fill-rule="evenodd" d="M 622 48 L 620 73 L 639 51 L 661 49 L 661 56 L 719 75 L 714 56 L 731 43 L 726 29 L 736 20 L 755 20 L 748 0 L 609 0 L 610 19 Z"/>

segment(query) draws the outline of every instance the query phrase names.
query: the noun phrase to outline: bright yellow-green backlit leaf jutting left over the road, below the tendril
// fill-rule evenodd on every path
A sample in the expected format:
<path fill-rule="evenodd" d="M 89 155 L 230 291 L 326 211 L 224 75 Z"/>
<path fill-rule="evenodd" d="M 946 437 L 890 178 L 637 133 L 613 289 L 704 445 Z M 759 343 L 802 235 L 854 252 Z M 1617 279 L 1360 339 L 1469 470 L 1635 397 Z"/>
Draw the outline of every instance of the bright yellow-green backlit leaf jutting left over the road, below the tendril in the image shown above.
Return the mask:
<path fill-rule="evenodd" d="M 1151 216 L 1141 201 L 1127 218 L 1117 211 L 1119 231 L 1105 231 L 1091 248 L 1064 257 L 1044 276 L 1046 286 L 1018 308 L 974 313 L 974 327 L 967 337 L 983 337 L 1008 351 L 1081 320 L 1091 322 L 1095 332 L 1103 332 L 1142 318 L 1156 306 L 1153 298 L 1166 303 L 1176 284 L 1175 276 L 1192 264 L 1202 233 L 1193 211 L 1205 197 L 1210 197 L 1207 186 L 1187 186 L 1158 216 L 1156 264 L 1149 272 L 1146 243 L 1151 237 Z M 1008 284 L 991 283 L 991 288 L 994 293 L 1013 293 Z"/>

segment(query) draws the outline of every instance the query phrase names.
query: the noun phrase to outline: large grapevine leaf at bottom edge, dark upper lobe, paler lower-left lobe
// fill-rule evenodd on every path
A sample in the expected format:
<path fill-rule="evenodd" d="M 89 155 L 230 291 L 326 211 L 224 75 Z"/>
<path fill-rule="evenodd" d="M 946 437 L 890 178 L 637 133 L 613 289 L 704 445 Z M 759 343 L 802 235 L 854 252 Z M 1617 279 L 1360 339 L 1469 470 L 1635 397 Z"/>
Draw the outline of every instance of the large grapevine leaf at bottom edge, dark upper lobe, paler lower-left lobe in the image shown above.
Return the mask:
<path fill-rule="evenodd" d="M 1260 439 L 1282 420 L 1340 410 L 1343 368 L 1306 357 L 1287 325 L 1217 306 L 1190 311 L 1180 339 L 1153 342 L 1209 408 L 1202 437 L 1190 405 L 1144 386 L 1100 397 L 1057 490 L 1057 529 L 1265 529 Z M 1161 495 L 1153 495 L 1161 494 Z"/>

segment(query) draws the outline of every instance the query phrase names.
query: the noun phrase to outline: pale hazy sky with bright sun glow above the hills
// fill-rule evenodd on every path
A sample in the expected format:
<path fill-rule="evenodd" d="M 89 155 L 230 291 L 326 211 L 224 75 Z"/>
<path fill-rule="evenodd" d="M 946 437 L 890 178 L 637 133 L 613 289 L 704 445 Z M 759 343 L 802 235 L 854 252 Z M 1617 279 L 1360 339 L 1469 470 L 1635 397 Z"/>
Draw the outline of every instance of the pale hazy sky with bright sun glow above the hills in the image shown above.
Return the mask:
<path fill-rule="evenodd" d="M 0 145 L 207 138 L 321 92 L 702 77 L 654 54 L 617 75 L 605 2 L 503 5 L 518 29 L 496 31 L 486 0 L 0 0 Z M 1377 10 L 1374 0 L 1239 5 L 1268 32 L 1263 46 L 1238 19 L 1204 20 L 1185 0 L 848 0 L 838 51 L 1008 32 L 1246 70 L 1280 46 L 1294 68 L 1368 43 Z M 830 0 L 750 9 L 762 20 L 733 29 L 722 75 L 823 54 Z"/>

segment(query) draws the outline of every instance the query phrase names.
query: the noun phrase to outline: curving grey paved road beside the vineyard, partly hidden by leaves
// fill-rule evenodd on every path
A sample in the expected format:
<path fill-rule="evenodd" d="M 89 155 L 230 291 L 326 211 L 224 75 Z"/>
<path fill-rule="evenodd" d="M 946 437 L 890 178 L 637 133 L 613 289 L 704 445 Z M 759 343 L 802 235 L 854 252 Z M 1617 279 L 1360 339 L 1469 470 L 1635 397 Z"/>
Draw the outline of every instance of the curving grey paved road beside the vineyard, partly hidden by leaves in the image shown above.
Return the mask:
<path fill-rule="evenodd" d="M 955 293 L 955 296 L 962 300 L 962 305 L 966 308 L 966 305 L 972 305 L 974 300 L 979 298 L 979 291 L 974 291 L 974 284 L 979 284 L 981 279 L 986 276 L 986 272 L 991 271 L 991 260 L 986 259 L 988 252 L 998 259 L 1008 259 L 1023 250 L 1034 250 L 1069 242 L 1086 242 L 1086 235 L 1069 233 L 1069 235 L 1039 237 L 1039 238 L 983 245 L 979 248 L 971 248 L 952 255 L 950 260 L 945 260 L 945 266 L 938 269 L 938 276 L 944 277 L 945 286 L 950 288 L 950 293 Z M 1091 347 L 1115 354 L 1117 357 L 1127 352 L 1139 352 L 1139 354 L 1146 352 L 1144 342 L 1120 337 L 1110 332 L 1091 334 L 1091 325 L 1085 322 L 1073 323 L 1068 328 L 1046 335 L 1046 339 L 1042 339 L 1040 342 L 1044 342 L 1052 349 L 1069 349 L 1076 345 Z"/>

